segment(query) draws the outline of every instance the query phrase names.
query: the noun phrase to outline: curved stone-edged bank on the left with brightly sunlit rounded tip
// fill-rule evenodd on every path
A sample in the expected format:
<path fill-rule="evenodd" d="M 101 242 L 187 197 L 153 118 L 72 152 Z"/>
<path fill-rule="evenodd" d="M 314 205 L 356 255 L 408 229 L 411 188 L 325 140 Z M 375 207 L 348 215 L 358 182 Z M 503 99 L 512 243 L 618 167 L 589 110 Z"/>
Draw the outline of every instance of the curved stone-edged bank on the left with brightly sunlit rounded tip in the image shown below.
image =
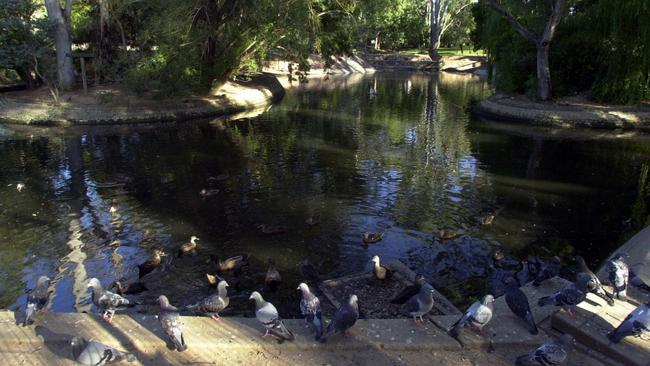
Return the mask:
<path fill-rule="evenodd" d="M 140 100 L 119 90 L 91 89 L 90 95 L 61 97 L 60 105 L 40 94 L 0 95 L 0 122 L 13 124 L 72 126 L 169 122 L 224 116 L 267 106 L 284 96 L 275 76 L 258 74 L 248 81 L 229 81 L 206 97 L 168 101 Z M 36 92 L 34 92 L 36 93 Z M 38 95 L 38 96 L 34 96 Z M 92 99 L 95 98 L 95 99 Z M 112 99 L 117 99 L 113 102 Z"/>

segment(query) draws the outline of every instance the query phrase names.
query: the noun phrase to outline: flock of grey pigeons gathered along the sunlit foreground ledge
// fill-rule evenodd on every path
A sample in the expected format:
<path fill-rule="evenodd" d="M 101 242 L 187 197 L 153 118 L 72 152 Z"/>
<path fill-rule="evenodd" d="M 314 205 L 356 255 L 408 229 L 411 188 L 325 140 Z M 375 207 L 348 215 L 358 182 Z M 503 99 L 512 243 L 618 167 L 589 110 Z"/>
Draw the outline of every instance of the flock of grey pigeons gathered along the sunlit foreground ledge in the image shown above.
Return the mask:
<path fill-rule="evenodd" d="M 198 238 L 192 237 L 189 243 L 183 244 L 179 249 L 179 255 L 196 252 Z M 139 266 L 140 276 L 144 276 L 152 271 L 152 266 L 160 264 L 162 252 L 154 253 L 154 258 Z M 646 286 L 631 274 L 624 260 L 624 254 L 618 254 L 607 263 L 608 279 L 607 282 L 613 287 L 614 292 L 609 293 L 605 290 L 598 277 L 587 267 L 582 257 L 576 257 L 579 273 L 575 282 L 570 283 L 565 288 L 553 293 L 550 296 L 542 297 L 538 301 L 538 306 L 561 306 L 569 314 L 573 314 L 573 308 L 580 302 L 584 301 L 587 293 L 592 292 L 604 298 L 610 305 L 614 304 L 614 298 L 625 299 L 628 285 L 637 287 Z M 219 266 L 220 271 L 238 270 L 244 265 L 244 258 L 233 257 L 226 260 L 213 258 Z M 382 265 L 379 257 L 372 258 L 374 263 L 373 273 L 378 280 L 390 278 L 392 270 L 389 266 Z M 313 269 L 313 268 L 312 268 Z M 549 259 L 537 278 L 533 281 L 534 286 L 539 286 L 543 281 L 557 276 L 560 272 L 561 264 L 558 257 Z M 304 273 L 304 272 L 303 272 Z M 270 278 L 269 278 L 270 277 Z M 305 276 L 308 277 L 308 276 Z M 636 278 L 636 282 L 634 279 Z M 210 278 L 209 278 L 210 279 Z M 267 280 L 279 281 L 279 273 L 274 264 L 269 261 L 269 272 Z M 160 326 L 170 344 L 182 352 L 188 346 L 183 337 L 183 323 L 181 321 L 181 312 L 187 311 L 198 315 L 209 316 L 219 320 L 219 313 L 226 309 L 230 299 L 228 297 L 228 283 L 219 278 L 213 277 L 212 281 L 217 282 L 216 293 L 206 297 L 196 304 L 177 308 L 170 304 L 166 296 L 160 295 L 158 303 L 160 312 L 158 320 Z M 270 282 L 268 283 L 271 284 Z M 43 308 L 49 297 L 49 278 L 41 276 L 36 287 L 30 291 L 27 298 L 25 309 L 24 325 L 31 323 L 35 312 Z M 119 286 L 118 286 L 119 288 Z M 97 278 L 91 278 L 88 281 L 88 289 L 92 291 L 93 304 L 101 311 L 101 318 L 111 323 L 113 314 L 116 311 L 133 307 L 137 305 L 134 301 L 129 300 L 120 293 L 115 293 L 104 289 Z M 647 286 L 646 286 L 647 289 Z M 359 318 L 359 305 L 356 295 L 352 294 L 348 300 L 343 302 L 336 310 L 333 318 L 327 325 L 323 319 L 321 311 L 321 302 L 319 298 L 310 290 L 306 283 L 300 283 L 297 290 L 301 291 L 300 311 L 305 317 L 305 322 L 313 330 L 315 339 L 319 342 L 325 342 L 327 339 L 338 334 L 345 334 L 354 326 Z M 397 295 L 391 302 L 400 304 L 403 312 L 413 317 L 416 324 L 423 322 L 423 316 L 429 313 L 433 308 L 433 287 L 426 283 L 423 276 L 418 275 L 415 283 L 408 286 Z M 279 343 L 283 341 L 292 341 L 293 333 L 283 323 L 276 307 L 264 300 L 262 295 L 254 291 L 251 293 L 249 300 L 255 302 L 255 315 L 257 320 L 264 328 L 264 336 L 272 335 Z M 531 334 L 538 334 L 538 329 L 533 318 L 533 313 L 526 294 L 519 288 L 514 278 L 506 280 L 505 290 L 506 304 L 510 310 L 521 318 L 527 325 Z M 455 322 L 448 333 L 461 342 L 459 335 L 463 328 L 470 327 L 479 333 L 483 333 L 483 328 L 490 322 L 494 313 L 494 297 L 490 294 L 485 295 L 480 301 L 473 303 Z M 608 334 L 609 339 L 614 342 L 620 342 L 627 336 L 644 336 L 644 333 L 650 332 L 650 302 L 638 306 L 628 317 L 612 332 Z M 556 340 L 549 341 L 530 354 L 520 356 L 516 360 L 517 365 L 561 365 L 567 361 L 570 347 L 574 340 L 569 335 L 563 335 Z M 462 342 L 461 342 L 462 344 Z M 112 361 L 134 360 L 133 355 L 118 351 L 109 346 L 103 345 L 96 341 L 87 341 L 81 337 L 74 337 L 71 341 L 72 354 L 75 360 L 82 365 L 103 365 Z"/>

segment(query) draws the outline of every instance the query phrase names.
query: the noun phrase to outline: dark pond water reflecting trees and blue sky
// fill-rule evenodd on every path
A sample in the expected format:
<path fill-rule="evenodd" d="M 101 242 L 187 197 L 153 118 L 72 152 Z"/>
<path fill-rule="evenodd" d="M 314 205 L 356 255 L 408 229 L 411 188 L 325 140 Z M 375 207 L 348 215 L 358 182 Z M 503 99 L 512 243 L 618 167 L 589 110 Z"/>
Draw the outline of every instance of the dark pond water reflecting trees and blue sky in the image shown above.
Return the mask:
<path fill-rule="evenodd" d="M 529 256 L 596 266 L 647 215 L 650 138 L 473 118 L 489 93 L 466 76 L 377 74 L 311 81 L 242 119 L 3 126 L 0 307 L 23 304 L 47 274 L 51 310 L 87 311 L 87 278 L 137 278 L 152 248 L 173 254 L 191 235 L 198 255 L 167 257 L 144 303 L 207 294 L 211 254 L 251 256 L 233 309 L 250 314 L 256 289 L 285 317 L 297 315 L 302 259 L 325 277 L 368 270 L 373 255 L 400 260 L 459 306 L 497 291 L 500 269 L 516 273 Z M 461 235 L 442 240 L 442 229 Z M 364 246 L 366 231 L 385 234 Z M 263 286 L 267 257 L 283 276 L 276 293 Z"/>

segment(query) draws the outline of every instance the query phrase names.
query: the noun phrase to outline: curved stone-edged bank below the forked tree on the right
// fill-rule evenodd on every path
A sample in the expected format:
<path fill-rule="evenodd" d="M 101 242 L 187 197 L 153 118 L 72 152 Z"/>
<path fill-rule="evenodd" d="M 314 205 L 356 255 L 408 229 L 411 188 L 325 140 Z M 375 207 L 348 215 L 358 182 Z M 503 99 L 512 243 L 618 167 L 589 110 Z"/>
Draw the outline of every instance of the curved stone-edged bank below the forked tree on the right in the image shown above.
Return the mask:
<path fill-rule="evenodd" d="M 494 95 L 474 108 L 491 120 L 539 126 L 650 130 L 650 108 L 607 106 L 583 101 L 536 102 L 522 97 Z"/>

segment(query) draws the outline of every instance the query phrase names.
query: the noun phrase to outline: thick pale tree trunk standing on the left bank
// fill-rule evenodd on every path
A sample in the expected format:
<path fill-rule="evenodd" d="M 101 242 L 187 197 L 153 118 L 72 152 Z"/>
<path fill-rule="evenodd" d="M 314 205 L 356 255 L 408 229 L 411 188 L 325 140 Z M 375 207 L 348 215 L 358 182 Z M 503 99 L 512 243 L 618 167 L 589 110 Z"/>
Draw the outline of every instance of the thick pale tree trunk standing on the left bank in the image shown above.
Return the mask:
<path fill-rule="evenodd" d="M 67 90 L 74 84 L 74 65 L 72 63 L 72 38 L 68 23 L 72 0 L 66 1 L 65 16 L 59 0 L 45 0 L 47 17 L 54 26 L 56 47 L 56 77 L 61 89 Z"/>

